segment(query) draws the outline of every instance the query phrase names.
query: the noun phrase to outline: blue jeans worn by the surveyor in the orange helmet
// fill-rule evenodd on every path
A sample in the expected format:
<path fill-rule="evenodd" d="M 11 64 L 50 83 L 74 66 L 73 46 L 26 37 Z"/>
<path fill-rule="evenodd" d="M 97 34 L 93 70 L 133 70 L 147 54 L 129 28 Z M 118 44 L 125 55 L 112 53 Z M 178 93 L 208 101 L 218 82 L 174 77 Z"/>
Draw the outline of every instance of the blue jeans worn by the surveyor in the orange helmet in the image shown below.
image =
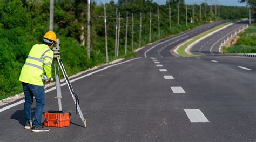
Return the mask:
<path fill-rule="evenodd" d="M 29 83 L 22 82 L 23 91 L 25 94 L 25 103 L 24 103 L 24 115 L 26 124 L 29 124 L 31 118 L 31 105 L 33 103 L 33 97 L 36 99 L 36 108 L 35 108 L 35 119 L 33 121 L 34 127 L 41 126 L 41 119 L 45 104 L 45 92 L 44 86 L 32 85 Z"/>

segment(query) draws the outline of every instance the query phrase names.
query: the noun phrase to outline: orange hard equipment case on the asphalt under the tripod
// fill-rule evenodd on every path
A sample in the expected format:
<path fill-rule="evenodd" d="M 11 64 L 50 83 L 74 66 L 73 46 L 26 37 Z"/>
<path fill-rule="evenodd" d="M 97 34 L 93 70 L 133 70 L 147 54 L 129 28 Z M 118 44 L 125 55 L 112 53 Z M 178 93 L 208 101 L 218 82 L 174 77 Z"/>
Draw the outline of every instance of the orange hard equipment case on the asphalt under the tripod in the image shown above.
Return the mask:
<path fill-rule="evenodd" d="M 71 113 L 65 111 L 48 111 L 44 113 L 44 126 L 67 127 Z"/>

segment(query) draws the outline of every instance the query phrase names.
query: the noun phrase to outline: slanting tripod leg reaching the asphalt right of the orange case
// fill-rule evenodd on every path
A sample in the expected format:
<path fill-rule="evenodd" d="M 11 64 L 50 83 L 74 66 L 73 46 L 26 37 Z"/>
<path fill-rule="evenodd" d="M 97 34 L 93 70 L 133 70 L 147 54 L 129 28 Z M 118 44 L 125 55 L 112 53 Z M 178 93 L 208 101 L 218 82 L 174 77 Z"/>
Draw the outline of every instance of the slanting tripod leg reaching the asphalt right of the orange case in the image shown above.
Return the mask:
<path fill-rule="evenodd" d="M 69 90 L 70 90 L 70 93 L 71 93 L 71 96 L 76 104 L 76 107 L 77 107 L 77 110 L 78 110 L 78 113 L 79 113 L 79 116 L 80 118 L 82 119 L 83 123 L 84 123 L 84 127 L 86 127 L 86 119 L 84 119 L 84 116 L 83 116 L 83 113 L 80 109 L 80 106 L 79 104 L 77 103 L 77 95 L 76 93 L 73 91 L 73 88 L 72 88 L 72 85 L 70 84 L 70 81 L 69 81 L 69 77 L 68 75 L 66 74 L 66 71 L 65 71 L 65 68 L 64 68 L 64 65 L 62 64 L 62 61 L 60 59 L 57 60 L 58 61 L 58 65 L 60 66 L 60 69 L 62 70 L 62 73 L 64 75 L 64 78 L 66 80 L 66 84 L 68 85 L 69 87 Z"/>

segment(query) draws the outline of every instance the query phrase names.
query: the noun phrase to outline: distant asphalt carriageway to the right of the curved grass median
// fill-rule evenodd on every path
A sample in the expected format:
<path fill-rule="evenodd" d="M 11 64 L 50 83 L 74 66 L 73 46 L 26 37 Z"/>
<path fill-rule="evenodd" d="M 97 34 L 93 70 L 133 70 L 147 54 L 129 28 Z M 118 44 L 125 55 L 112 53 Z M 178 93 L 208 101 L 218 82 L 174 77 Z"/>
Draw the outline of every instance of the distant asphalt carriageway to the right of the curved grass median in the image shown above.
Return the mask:
<path fill-rule="evenodd" d="M 190 49 L 190 52 L 197 55 L 220 54 L 221 51 L 219 47 L 221 43 L 223 43 L 224 40 L 227 40 L 228 37 L 231 37 L 231 35 L 235 35 L 235 33 L 239 32 L 239 30 L 242 30 L 247 26 L 247 24 L 248 21 L 236 22 L 233 25 L 228 26 L 227 28 L 224 28 L 223 30 L 220 30 L 219 32 L 205 38 L 204 40 L 201 40 Z"/>

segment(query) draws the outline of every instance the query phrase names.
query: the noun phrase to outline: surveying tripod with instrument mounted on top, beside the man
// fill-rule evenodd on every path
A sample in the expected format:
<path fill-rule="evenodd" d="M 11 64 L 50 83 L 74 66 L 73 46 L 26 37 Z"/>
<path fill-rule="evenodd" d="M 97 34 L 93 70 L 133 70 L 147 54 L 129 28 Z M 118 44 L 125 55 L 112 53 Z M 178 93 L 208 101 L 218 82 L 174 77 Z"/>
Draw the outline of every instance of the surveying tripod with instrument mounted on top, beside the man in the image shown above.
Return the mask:
<path fill-rule="evenodd" d="M 59 71 L 59 67 L 60 67 L 60 69 L 62 70 L 63 76 L 66 80 L 66 84 L 69 87 L 69 91 L 71 93 L 71 96 L 72 96 L 72 98 L 73 98 L 73 100 L 76 104 L 76 113 L 78 111 L 78 113 L 80 115 L 80 118 L 82 119 L 82 121 L 84 123 L 84 127 L 86 127 L 86 119 L 84 119 L 83 113 L 80 109 L 78 96 L 73 90 L 73 87 L 72 87 L 72 85 L 69 81 L 69 77 L 66 74 L 66 71 L 65 71 L 64 65 L 62 63 L 62 60 L 60 59 L 60 52 L 59 52 L 60 51 L 60 40 L 59 39 L 57 39 L 57 45 L 56 45 L 56 47 L 53 47 L 52 51 L 53 51 L 53 65 L 54 65 L 54 73 L 55 73 L 55 80 L 56 80 L 56 91 L 57 91 L 57 96 L 55 98 L 58 99 L 59 111 L 62 111 L 62 102 L 61 102 L 62 92 L 61 92 L 61 89 L 60 89 L 60 71 Z M 58 69 L 57 71 L 56 71 L 56 66 L 57 66 L 57 69 Z"/>

